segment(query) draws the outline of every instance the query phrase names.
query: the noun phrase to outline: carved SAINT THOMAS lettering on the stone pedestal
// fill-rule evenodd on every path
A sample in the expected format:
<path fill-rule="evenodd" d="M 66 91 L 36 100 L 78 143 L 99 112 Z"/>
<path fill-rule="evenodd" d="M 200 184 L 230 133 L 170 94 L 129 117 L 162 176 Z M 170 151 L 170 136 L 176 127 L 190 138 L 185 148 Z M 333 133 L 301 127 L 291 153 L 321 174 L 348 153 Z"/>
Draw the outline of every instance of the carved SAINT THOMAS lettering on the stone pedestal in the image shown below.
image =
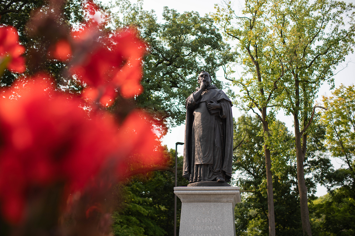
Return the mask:
<path fill-rule="evenodd" d="M 197 217 L 195 225 L 192 225 L 192 230 L 205 232 L 194 233 L 191 236 L 224 236 L 218 233 L 218 231 L 222 230 L 222 225 L 218 225 L 217 220 L 216 217 Z M 207 230 L 214 232 L 206 233 Z"/>

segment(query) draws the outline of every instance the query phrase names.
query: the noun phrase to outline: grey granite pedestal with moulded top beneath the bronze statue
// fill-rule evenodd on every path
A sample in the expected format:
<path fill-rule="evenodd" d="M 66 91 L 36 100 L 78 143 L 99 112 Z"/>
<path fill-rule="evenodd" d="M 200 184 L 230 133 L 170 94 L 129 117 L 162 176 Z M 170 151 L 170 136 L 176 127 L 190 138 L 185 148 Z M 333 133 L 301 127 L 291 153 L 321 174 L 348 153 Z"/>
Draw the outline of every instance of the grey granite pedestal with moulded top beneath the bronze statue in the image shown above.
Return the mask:
<path fill-rule="evenodd" d="M 175 187 L 182 202 L 179 236 L 235 236 L 239 187 Z"/>

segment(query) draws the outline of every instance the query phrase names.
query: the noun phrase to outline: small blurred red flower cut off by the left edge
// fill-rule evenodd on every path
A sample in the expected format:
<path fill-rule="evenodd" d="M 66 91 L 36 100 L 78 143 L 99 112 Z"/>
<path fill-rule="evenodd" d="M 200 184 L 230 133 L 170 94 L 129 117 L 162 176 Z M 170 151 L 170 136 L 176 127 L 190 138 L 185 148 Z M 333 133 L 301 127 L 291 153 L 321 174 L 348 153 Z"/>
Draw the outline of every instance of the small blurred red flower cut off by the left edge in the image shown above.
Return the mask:
<path fill-rule="evenodd" d="M 6 67 L 12 72 L 23 73 L 26 70 L 24 58 L 25 49 L 18 43 L 17 30 L 11 26 L 0 27 L 0 63 L 9 57 Z"/>

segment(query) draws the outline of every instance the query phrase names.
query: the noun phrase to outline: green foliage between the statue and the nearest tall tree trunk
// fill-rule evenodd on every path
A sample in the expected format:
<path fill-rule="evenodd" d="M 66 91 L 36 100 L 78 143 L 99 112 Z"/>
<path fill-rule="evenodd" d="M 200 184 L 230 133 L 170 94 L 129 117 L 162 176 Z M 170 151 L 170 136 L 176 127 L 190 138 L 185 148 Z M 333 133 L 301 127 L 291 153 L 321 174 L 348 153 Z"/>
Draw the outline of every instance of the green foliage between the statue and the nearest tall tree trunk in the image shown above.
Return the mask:
<path fill-rule="evenodd" d="M 237 173 L 236 182 L 241 188 L 243 200 L 235 211 L 236 234 L 243 232 L 265 233 L 267 227 L 267 196 L 265 197 L 266 177 L 263 158 L 263 137 L 258 118 L 241 116 L 234 123 L 235 160 L 233 170 Z M 258 227 L 260 225 L 260 228 Z"/>

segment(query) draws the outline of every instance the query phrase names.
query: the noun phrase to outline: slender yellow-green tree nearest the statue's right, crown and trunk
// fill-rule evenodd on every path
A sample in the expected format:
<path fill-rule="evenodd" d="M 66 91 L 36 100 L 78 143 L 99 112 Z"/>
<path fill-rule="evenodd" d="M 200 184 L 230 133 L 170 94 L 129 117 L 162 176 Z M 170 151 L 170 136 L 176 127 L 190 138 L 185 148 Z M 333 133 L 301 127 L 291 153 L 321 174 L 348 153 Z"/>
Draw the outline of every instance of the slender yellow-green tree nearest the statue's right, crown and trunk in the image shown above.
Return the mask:
<path fill-rule="evenodd" d="M 243 16 L 237 16 L 231 4 L 217 7 L 214 20 L 224 30 L 228 38 L 238 41 L 239 63 L 246 70 L 240 79 L 231 79 L 241 87 L 244 93 L 242 103 L 247 104 L 246 110 L 251 109 L 260 119 L 264 133 L 264 157 L 267 179 L 268 222 L 269 235 L 275 235 L 274 199 L 271 154 L 268 146 L 269 111 L 273 107 L 274 96 L 278 90 L 278 81 L 284 75 L 283 63 L 274 52 L 275 46 L 270 35 L 270 27 L 266 23 L 268 1 L 246 1 L 242 10 Z M 232 73 L 233 71 L 230 71 Z M 254 110 L 255 109 L 255 110 Z"/>

